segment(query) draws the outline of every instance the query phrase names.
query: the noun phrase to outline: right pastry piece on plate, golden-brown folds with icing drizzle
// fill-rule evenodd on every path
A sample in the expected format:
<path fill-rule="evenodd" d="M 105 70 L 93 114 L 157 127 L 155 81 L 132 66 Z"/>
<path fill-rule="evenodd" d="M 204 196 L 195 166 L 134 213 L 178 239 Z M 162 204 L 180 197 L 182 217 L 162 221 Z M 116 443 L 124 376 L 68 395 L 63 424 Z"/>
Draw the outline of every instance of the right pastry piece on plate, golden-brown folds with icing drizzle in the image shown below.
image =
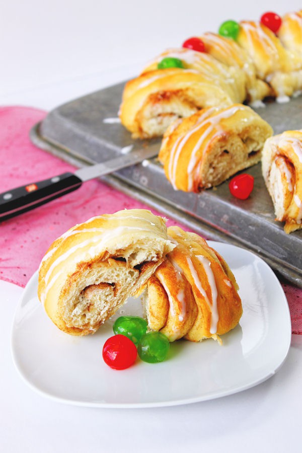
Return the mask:
<path fill-rule="evenodd" d="M 242 304 L 228 264 L 205 240 L 178 226 L 168 228 L 176 247 L 148 280 L 148 326 L 170 341 L 201 341 L 229 332 L 239 322 Z"/>

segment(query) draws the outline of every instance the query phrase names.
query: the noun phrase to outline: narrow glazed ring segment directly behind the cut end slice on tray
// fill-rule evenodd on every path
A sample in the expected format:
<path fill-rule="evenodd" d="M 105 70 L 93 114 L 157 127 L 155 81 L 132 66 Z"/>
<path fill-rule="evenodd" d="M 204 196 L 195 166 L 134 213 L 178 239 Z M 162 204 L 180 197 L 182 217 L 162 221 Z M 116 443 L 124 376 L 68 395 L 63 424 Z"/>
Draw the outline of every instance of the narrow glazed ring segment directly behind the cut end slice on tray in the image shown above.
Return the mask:
<path fill-rule="evenodd" d="M 213 83 L 223 83 L 232 99 L 236 99 L 234 102 L 245 101 L 247 95 L 244 72 L 238 71 L 236 67 L 226 66 L 206 52 L 197 52 L 184 47 L 167 49 L 151 61 L 142 73 L 157 70 L 158 64 L 164 58 L 177 58 L 185 69 L 195 69 L 213 78 Z"/>

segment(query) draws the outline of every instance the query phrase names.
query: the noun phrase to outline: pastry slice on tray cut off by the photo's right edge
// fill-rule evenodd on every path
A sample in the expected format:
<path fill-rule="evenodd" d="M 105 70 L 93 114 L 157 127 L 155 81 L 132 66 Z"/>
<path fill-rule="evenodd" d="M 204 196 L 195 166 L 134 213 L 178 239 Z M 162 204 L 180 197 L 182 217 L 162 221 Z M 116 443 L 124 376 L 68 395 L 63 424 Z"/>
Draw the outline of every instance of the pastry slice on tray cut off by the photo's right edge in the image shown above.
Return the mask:
<path fill-rule="evenodd" d="M 276 220 L 285 222 L 285 233 L 302 228 L 302 130 L 288 130 L 266 140 L 262 174 Z"/>

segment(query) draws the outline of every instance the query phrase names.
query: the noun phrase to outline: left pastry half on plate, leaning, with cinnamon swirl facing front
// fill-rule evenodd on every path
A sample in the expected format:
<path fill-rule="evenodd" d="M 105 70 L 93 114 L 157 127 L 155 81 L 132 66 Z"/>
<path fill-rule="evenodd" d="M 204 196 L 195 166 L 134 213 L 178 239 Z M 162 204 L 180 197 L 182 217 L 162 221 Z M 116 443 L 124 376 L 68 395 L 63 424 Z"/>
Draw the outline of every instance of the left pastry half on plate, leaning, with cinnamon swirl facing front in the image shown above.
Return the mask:
<path fill-rule="evenodd" d="M 49 248 L 39 269 L 39 299 L 62 331 L 94 333 L 174 247 L 163 218 L 148 210 L 93 217 Z"/>

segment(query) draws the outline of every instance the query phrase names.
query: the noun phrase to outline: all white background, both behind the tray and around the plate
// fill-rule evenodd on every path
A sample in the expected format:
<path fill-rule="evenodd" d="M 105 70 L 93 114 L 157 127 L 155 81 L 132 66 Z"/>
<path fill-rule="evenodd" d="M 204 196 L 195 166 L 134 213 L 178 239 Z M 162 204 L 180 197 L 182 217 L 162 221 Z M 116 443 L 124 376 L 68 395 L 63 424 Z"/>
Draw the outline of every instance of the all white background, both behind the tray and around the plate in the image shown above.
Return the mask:
<path fill-rule="evenodd" d="M 295 0 L 0 0 L 0 5 L 0 105 L 46 110 L 134 76 L 165 48 L 216 31 L 224 20 L 302 8 Z M 10 330 L 21 294 L 21 288 L 0 282 L 1 451 L 300 449 L 302 336 L 292 336 L 276 375 L 237 395 L 162 409 L 79 408 L 42 398 L 17 374 Z"/>

